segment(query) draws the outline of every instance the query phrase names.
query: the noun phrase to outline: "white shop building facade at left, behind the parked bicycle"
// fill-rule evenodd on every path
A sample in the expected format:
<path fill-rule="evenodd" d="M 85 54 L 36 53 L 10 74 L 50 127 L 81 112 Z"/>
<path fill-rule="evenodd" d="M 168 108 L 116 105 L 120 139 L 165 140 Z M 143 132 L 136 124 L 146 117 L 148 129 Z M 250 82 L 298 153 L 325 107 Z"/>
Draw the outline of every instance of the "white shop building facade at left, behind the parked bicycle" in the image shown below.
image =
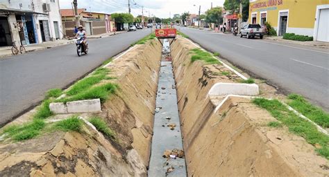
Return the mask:
<path fill-rule="evenodd" d="M 62 39 L 61 28 L 58 0 L 0 1 L 0 46 Z"/>

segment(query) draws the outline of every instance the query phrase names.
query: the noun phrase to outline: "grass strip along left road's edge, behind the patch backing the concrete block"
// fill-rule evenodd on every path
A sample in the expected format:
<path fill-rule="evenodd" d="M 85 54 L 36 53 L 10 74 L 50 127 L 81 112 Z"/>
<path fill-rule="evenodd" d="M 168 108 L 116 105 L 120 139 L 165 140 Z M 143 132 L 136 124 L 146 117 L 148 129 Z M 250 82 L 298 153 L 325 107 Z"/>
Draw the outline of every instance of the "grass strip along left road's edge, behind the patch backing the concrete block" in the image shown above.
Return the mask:
<path fill-rule="evenodd" d="M 110 71 L 108 68 L 98 68 L 92 73 L 90 77 L 85 77 L 83 80 L 80 80 L 76 82 L 69 91 L 67 91 L 67 95 L 76 95 L 78 93 L 81 93 L 82 91 L 85 91 L 87 88 L 90 88 L 94 84 L 98 84 L 101 82 L 101 80 L 104 80 L 106 78 L 106 75 Z"/>

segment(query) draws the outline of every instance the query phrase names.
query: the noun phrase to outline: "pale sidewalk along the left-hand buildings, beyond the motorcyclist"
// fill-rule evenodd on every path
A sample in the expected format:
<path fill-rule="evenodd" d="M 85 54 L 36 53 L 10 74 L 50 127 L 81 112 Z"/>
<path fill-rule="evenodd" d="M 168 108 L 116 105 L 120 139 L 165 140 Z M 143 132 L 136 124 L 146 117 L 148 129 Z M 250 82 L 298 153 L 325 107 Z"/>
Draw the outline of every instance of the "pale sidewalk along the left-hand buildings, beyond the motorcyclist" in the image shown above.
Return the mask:
<path fill-rule="evenodd" d="M 126 31 L 118 31 L 116 32 L 116 34 L 122 33 L 122 32 L 126 32 Z M 91 35 L 88 37 L 88 39 L 99 39 L 102 37 L 109 37 L 111 35 L 114 35 L 114 32 L 108 32 L 108 33 L 103 33 L 100 35 Z M 25 50 L 26 53 L 30 53 L 36 50 L 44 50 L 47 48 L 53 48 L 56 46 L 62 46 L 65 44 L 72 44 L 74 43 L 73 39 L 60 39 L 60 40 L 56 40 L 56 41 L 46 41 L 43 42 L 42 44 L 31 44 L 31 45 L 26 45 Z M 19 47 L 19 46 L 18 46 Z M 2 57 L 8 57 L 11 56 L 12 52 L 11 52 L 11 46 L 4 46 L 4 47 L 0 47 L 0 59 Z"/>

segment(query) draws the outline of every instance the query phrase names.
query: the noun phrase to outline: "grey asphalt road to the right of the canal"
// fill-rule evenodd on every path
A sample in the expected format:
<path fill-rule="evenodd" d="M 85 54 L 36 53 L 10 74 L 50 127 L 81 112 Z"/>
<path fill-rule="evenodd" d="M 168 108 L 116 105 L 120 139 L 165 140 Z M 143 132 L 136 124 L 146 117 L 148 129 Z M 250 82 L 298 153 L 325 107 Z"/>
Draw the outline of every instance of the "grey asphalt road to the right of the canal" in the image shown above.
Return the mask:
<path fill-rule="evenodd" d="M 180 28 L 190 39 L 229 62 L 299 93 L 329 111 L 329 50 L 269 39 L 246 39 Z"/>

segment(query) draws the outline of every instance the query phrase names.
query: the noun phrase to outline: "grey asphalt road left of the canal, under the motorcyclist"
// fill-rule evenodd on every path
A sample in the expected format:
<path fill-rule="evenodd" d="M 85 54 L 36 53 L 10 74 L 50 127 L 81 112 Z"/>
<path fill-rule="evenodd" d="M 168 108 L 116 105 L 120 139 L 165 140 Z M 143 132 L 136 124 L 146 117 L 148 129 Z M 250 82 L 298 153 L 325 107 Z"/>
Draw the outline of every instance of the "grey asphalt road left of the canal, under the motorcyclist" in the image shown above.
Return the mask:
<path fill-rule="evenodd" d="M 137 30 L 89 39 L 90 50 L 81 57 L 76 46 L 68 44 L 0 59 L 0 125 L 42 101 L 49 89 L 65 88 L 149 33 Z"/>

